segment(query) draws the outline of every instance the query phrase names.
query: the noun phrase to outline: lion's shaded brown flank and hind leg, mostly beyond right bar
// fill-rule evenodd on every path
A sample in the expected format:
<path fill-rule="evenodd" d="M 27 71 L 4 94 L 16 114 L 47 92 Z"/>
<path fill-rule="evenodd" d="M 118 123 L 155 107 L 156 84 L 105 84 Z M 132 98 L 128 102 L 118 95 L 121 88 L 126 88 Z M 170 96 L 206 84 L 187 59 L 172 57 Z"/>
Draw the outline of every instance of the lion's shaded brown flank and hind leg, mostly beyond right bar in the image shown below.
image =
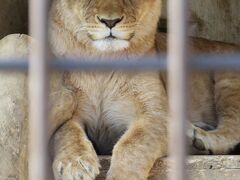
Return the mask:
<path fill-rule="evenodd" d="M 166 50 L 166 35 L 157 35 L 157 48 Z M 200 53 L 233 54 L 240 48 L 220 42 L 192 38 L 192 55 Z M 240 142 L 240 73 L 235 71 L 191 72 L 189 77 L 189 120 L 193 122 L 188 136 L 192 145 L 204 154 L 227 154 Z M 164 84 L 166 75 L 161 75 Z M 167 85 L 166 85 L 167 87 Z M 200 128 L 199 128 L 200 127 Z M 211 131 L 205 131 L 209 128 Z"/>

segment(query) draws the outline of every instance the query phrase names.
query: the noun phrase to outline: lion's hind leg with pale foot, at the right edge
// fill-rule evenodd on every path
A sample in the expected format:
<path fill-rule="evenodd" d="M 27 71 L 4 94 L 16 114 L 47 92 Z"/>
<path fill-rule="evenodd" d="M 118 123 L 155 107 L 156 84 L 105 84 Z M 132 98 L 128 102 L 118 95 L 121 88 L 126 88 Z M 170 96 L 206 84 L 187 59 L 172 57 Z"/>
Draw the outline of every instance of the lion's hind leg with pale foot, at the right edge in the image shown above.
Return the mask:
<path fill-rule="evenodd" d="M 240 142 L 240 74 L 215 75 L 218 127 L 205 131 L 194 127 L 194 146 L 213 154 L 227 154 Z"/>

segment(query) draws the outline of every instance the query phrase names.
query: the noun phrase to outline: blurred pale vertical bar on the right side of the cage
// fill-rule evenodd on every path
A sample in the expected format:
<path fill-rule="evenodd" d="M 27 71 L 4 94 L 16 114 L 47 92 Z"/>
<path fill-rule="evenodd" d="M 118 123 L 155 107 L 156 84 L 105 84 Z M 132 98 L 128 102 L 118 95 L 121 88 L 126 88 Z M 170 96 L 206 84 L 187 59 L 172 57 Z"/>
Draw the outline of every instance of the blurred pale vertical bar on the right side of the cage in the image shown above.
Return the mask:
<path fill-rule="evenodd" d="M 171 180 L 186 180 L 187 119 L 187 0 L 169 0 L 169 98 L 170 98 L 170 155 L 172 158 Z"/>

